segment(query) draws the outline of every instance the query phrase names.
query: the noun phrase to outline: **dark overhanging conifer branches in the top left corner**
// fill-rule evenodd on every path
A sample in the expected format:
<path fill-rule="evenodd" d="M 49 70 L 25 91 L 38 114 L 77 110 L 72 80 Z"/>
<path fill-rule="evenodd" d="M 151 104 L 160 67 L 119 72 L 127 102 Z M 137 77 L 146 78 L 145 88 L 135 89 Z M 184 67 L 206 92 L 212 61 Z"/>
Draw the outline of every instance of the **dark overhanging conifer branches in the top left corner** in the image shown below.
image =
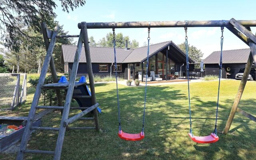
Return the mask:
<path fill-rule="evenodd" d="M 79 6 L 84 6 L 86 0 L 59 0 L 62 10 L 68 12 Z M 54 0 L 0 0 L 0 31 L 1 40 L 5 46 L 18 52 L 20 49 L 20 37 L 28 36 L 19 27 L 24 22 L 34 31 L 40 32 L 40 22 L 49 24 L 52 18 L 56 18 Z M 31 42 L 33 40 L 30 38 Z"/>

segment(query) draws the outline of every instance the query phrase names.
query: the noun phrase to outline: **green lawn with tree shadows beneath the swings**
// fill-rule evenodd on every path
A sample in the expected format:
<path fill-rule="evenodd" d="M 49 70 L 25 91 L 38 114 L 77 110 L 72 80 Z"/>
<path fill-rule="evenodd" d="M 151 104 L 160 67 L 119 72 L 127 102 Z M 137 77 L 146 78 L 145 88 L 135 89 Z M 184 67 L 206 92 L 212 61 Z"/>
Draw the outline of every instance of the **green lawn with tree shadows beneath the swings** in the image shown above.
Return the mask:
<path fill-rule="evenodd" d="M 62 160 L 252 160 L 256 157 L 256 125 L 236 114 L 230 132 L 222 135 L 240 81 L 222 81 L 218 136 L 215 144 L 196 144 L 188 137 L 188 91 L 186 84 L 149 86 L 146 104 L 145 138 L 128 142 L 118 138 L 118 112 L 115 84 L 96 84 L 96 98 L 102 109 L 99 115 L 102 133 L 71 130 L 66 132 Z M 214 130 L 218 81 L 191 83 L 192 127 L 197 136 Z M 240 108 L 256 115 L 256 82 L 247 82 Z M 9 112 L 9 116 L 27 116 L 33 98 L 28 89 L 26 104 Z M 144 87 L 119 85 L 122 130 L 139 133 L 142 127 Z M 75 105 L 75 104 L 74 104 Z M 78 111 L 77 111 L 78 112 Z M 72 112 L 75 114 L 75 112 Z M 1 116 L 6 115 L 2 112 Z M 89 115 L 92 116 L 92 115 Z M 60 113 L 42 119 L 42 126 L 58 127 Z M 76 122 L 72 126 L 92 126 L 92 122 Z M 54 150 L 54 131 L 32 134 L 28 148 Z M 0 159 L 14 160 L 15 155 L 0 154 Z M 26 159 L 50 160 L 52 156 L 27 154 Z"/>

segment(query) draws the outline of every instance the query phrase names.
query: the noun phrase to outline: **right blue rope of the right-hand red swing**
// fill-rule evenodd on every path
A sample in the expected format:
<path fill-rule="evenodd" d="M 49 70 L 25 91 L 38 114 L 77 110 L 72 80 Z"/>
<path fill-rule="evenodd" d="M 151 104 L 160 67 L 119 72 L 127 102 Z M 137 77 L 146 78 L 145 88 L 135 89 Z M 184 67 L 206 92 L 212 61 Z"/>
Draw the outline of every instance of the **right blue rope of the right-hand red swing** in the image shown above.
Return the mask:
<path fill-rule="evenodd" d="M 219 96 L 220 96 L 220 77 L 222 70 L 222 47 L 223 47 L 223 31 L 224 27 L 221 28 L 221 37 L 220 37 L 220 71 L 219 71 L 219 87 L 218 87 L 218 100 L 217 100 L 217 108 L 216 108 L 216 120 L 215 120 L 215 128 L 214 133 L 217 136 L 217 119 L 218 119 L 218 107 L 219 107 Z"/>

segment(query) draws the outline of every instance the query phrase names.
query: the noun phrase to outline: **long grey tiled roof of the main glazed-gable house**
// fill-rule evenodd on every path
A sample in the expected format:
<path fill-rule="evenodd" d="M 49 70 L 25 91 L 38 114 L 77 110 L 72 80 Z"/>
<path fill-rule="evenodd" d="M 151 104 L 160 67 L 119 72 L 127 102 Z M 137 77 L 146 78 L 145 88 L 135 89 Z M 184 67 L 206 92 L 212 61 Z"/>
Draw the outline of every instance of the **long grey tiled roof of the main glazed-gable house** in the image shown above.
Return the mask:
<path fill-rule="evenodd" d="M 182 58 L 182 61 L 186 61 L 186 54 L 178 48 L 172 41 L 161 42 L 158 44 L 151 44 L 149 46 L 149 57 L 154 54 L 162 51 L 163 49 L 170 46 L 170 52 L 176 52 L 178 57 Z M 147 50 L 148 46 L 128 49 L 125 48 L 116 48 L 116 58 L 117 63 L 135 63 L 135 62 L 144 62 L 147 59 Z M 76 53 L 76 45 L 62 45 L 62 58 L 63 62 L 73 62 L 74 56 Z M 172 53 L 169 53 L 171 56 Z M 114 48 L 108 47 L 90 47 L 90 55 L 92 63 L 112 63 L 114 62 Z M 177 58 L 174 56 L 174 58 Z M 189 58 L 190 62 L 194 63 L 195 61 Z M 86 62 L 84 47 L 82 48 L 82 54 L 79 62 Z"/>

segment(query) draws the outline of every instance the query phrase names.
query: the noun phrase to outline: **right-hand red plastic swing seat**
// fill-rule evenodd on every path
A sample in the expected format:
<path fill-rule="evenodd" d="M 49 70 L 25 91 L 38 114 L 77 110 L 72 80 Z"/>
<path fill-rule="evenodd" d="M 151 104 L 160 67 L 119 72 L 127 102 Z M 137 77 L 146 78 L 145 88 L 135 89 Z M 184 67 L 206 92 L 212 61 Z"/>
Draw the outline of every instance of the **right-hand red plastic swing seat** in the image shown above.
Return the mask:
<path fill-rule="evenodd" d="M 219 140 L 219 137 L 216 136 L 216 134 L 211 133 L 209 136 L 194 136 L 191 133 L 188 133 L 188 136 L 190 136 L 191 140 L 193 140 L 196 143 L 215 143 Z"/>

